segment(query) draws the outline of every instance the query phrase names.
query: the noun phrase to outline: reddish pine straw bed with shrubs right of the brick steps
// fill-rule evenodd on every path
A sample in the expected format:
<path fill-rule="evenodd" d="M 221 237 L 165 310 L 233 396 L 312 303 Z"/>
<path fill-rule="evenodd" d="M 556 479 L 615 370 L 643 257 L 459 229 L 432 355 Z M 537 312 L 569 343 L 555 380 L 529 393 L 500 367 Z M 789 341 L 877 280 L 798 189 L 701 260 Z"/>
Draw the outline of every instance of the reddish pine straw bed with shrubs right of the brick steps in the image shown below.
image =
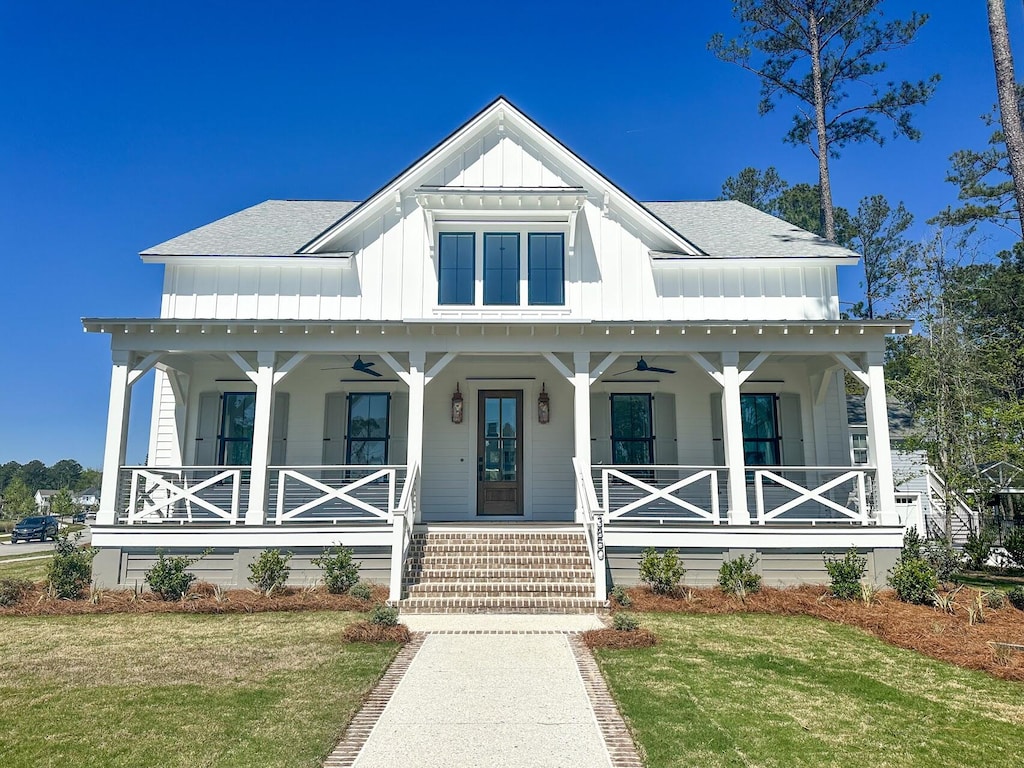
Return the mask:
<path fill-rule="evenodd" d="M 821 586 L 766 587 L 745 600 L 715 588 L 687 589 L 676 596 L 655 595 L 647 589 L 629 590 L 631 608 L 680 613 L 771 613 L 807 615 L 859 627 L 891 645 L 915 650 L 932 658 L 970 670 L 983 670 L 1005 680 L 1024 681 L 1024 653 L 995 652 L 989 643 L 1024 643 L 1024 611 L 1009 603 L 986 608 L 982 624 L 968 623 L 967 605 L 976 594 L 957 595 L 955 612 L 943 613 L 926 605 L 901 602 L 891 590 L 877 602 L 838 600 Z"/>

